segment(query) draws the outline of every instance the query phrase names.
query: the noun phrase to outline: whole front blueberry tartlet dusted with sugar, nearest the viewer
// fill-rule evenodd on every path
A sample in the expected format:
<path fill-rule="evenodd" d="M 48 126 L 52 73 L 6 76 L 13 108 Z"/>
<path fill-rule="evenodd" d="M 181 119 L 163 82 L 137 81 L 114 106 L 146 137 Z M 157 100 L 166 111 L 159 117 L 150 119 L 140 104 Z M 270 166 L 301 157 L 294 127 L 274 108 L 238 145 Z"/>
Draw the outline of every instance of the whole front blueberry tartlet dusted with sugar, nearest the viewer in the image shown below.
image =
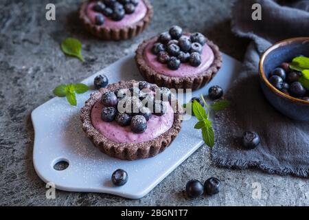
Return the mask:
<path fill-rule="evenodd" d="M 120 81 L 91 97 L 81 109 L 82 129 L 100 151 L 135 160 L 165 150 L 181 130 L 181 107 L 170 89 Z"/>

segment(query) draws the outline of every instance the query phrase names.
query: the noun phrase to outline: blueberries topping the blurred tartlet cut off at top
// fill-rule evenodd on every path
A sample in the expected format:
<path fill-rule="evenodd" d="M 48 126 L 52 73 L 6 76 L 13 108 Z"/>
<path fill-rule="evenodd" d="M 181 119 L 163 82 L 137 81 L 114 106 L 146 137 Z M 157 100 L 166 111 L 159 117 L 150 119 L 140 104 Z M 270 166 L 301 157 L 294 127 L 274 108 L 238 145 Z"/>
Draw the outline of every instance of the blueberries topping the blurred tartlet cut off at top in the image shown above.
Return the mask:
<path fill-rule="evenodd" d="M 104 16 L 111 18 L 113 21 L 121 21 L 126 14 L 133 14 L 139 0 L 102 0 L 93 5 L 93 10 L 99 12 L 95 17 L 96 25 L 104 24 Z M 103 16 L 104 14 L 104 16 Z"/>

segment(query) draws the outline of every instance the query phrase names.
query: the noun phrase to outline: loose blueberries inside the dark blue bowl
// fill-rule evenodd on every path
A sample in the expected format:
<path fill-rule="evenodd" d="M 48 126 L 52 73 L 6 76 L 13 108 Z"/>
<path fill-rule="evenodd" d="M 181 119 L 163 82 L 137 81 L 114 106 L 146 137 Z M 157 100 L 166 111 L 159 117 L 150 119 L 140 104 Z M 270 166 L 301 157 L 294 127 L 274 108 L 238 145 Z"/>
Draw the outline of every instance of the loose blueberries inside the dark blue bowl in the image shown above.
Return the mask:
<path fill-rule="evenodd" d="M 290 69 L 288 63 L 282 63 L 268 75 L 268 80 L 284 94 L 309 101 L 309 91 L 299 83 L 300 77 L 301 72 Z"/>

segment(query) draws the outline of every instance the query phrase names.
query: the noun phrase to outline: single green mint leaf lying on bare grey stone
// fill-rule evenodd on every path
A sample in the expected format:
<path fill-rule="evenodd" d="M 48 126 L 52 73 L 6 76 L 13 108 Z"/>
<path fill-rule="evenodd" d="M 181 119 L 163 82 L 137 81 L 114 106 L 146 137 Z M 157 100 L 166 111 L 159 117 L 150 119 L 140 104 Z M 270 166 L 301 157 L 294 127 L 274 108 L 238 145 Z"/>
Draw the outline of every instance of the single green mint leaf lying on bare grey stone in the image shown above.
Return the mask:
<path fill-rule="evenodd" d="M 69 56 L 76 56 L 80 61 L 84 62 L 82 57 L 82 43 L 78 39 L 67 38 L 61 43 L 61 50 Z"/>

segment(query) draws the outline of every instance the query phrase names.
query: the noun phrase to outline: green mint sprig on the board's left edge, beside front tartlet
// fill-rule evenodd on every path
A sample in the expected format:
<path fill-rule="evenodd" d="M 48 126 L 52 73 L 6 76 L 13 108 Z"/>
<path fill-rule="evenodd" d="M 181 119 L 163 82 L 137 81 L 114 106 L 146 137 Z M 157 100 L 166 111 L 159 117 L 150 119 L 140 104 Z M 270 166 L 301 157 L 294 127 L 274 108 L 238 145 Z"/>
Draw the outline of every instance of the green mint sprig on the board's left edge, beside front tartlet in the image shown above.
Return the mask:
<path fill-rule="evenodd" d="M 82 83 L 77 84 L 68 84 L 68 85 L 58 85 L 53 91 L 55 96 L 58 97 L 67 97 L 67 101 L 69 104 L 76 106 L 76 94 L 84 94 L 86 91 L 89 90 L 87 85 Z"/>

